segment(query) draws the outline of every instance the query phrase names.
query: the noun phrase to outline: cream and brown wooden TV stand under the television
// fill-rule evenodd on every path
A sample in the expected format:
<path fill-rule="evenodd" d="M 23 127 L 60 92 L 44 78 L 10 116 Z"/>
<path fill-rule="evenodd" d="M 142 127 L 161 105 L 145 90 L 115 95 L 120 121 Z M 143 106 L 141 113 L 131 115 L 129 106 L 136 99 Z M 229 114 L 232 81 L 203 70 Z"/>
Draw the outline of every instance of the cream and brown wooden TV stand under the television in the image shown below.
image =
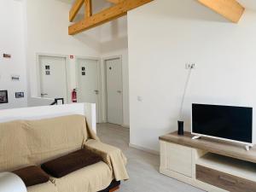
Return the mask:
<path fill-rule="evenodd" d="M 192 137 L 160 137 L 160 173 L 209 192 L 256 191 L 255 147 Z"/>

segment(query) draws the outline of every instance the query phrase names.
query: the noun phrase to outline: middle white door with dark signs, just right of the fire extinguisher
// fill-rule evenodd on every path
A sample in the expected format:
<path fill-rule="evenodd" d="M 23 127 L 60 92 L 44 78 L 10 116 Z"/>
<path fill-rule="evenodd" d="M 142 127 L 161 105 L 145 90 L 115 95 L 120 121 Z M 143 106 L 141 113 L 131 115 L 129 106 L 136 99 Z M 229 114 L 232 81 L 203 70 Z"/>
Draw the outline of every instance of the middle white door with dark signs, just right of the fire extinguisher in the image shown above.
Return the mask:
<path fill-rule="evenodd" d="M 78 60 L 78 102 L 96 103 L 96 121 L 99 114 L 98 61 Z"/>

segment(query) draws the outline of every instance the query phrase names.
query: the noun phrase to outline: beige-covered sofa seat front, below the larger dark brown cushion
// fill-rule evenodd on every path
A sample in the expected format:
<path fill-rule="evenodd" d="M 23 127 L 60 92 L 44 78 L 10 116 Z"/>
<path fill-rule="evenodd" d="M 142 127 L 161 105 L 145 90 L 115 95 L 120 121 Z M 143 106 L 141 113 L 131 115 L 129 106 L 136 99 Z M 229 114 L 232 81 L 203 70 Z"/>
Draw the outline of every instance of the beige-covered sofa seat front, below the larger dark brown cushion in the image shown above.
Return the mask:
<path fill-rule="evenodd" d="M 113 174 L 107 164 L 100 161 L 61 178 L 50 177 L 60 192 L 96 192 L 108 188 Z"/>

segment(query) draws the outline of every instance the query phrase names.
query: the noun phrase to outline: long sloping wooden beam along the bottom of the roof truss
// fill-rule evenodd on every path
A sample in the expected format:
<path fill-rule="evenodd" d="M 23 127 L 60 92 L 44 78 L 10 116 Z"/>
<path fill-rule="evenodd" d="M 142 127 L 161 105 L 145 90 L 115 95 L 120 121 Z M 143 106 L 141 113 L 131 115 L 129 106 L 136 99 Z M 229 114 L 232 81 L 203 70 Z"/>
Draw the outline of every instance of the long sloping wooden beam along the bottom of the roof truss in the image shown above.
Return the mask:
<path fill-rule="evenodd" d="M 154 0 L 124 0 L 121 3 L 117 3 L 108 9 L 102 10 L 102 12 L 90 16 L 78 23 L 68 27 L 68 34 L 75 35 L 79 32 L 83 32 L 92 27 L 102 25 L 110 20 L 117 19 L 127 14 L 131 9 L 136 9 L 143 4 L 150 3 Z"/>

